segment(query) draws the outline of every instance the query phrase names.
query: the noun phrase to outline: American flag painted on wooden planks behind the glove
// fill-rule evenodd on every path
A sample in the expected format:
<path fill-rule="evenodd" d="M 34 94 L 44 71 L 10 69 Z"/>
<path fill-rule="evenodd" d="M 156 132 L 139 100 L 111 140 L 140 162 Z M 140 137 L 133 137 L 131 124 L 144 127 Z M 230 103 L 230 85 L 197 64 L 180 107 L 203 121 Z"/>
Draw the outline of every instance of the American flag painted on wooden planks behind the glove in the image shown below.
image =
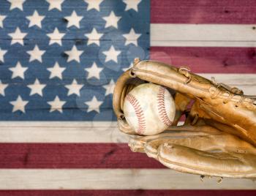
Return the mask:
<path fill-rule="evenodd" d="M 255 94 L 255 47 L 254 0 L 0 0 L 0 195 L 255 195 L 133 153 L 112 108 L 135 57 Z"/>

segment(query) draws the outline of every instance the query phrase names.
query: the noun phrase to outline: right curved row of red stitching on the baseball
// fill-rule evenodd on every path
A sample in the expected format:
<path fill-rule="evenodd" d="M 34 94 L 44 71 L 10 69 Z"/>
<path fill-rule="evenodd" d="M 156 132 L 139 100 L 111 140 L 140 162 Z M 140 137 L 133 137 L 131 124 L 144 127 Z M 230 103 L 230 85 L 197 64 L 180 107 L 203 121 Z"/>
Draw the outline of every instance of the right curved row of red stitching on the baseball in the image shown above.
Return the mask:
<path fill-rule="evenodd" d="M 162 123 L 165 124 L 167 127 L 170 127 L 173 122 L 170 121 L 166 113 L 165 88 L 163 88 L 162 86 L 159 86 L 158 92 L 157 92 L 157 108 L 158 108 L 159 116 L 161 118 Z"/>

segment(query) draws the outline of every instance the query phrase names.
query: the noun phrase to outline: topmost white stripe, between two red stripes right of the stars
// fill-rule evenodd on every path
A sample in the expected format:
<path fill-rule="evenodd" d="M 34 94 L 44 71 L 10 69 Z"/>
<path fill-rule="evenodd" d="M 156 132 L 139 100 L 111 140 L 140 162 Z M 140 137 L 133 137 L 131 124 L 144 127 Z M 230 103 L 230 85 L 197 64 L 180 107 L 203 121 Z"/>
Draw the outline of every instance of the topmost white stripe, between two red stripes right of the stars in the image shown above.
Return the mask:
<path fill-rule="evenodd" d="M 254 24 L 151 24 L 151 46 L 255 47 Z"/>

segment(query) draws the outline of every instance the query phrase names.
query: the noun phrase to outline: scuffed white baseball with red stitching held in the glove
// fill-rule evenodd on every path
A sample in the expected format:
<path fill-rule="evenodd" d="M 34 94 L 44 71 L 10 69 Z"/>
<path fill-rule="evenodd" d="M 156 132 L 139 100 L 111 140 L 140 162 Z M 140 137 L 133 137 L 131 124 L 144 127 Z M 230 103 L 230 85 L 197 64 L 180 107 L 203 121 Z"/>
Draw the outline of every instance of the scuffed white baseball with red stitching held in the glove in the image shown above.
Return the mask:
<path fill-rule="evenodd" d="M 175 102 L 163 86 L 144 83 L 124 99 L 124 116 L 139 135 L 156 135 L 173 123 Z"/>

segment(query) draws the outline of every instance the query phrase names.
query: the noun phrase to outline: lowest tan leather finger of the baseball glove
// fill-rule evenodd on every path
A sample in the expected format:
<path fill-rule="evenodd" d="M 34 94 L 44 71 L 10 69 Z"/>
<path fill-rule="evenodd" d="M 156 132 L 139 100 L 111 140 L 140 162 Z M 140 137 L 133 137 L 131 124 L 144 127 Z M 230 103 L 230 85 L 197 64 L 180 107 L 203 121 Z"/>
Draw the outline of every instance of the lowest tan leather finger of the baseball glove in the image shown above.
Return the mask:
<path fill-rule="evenodd" d="M 209 153 L 164 143 L 159 146 L 158 159 L 166 167 L 184 173 L 231 178 L 256 177 L 256 156 L 253 154 Z"/>

